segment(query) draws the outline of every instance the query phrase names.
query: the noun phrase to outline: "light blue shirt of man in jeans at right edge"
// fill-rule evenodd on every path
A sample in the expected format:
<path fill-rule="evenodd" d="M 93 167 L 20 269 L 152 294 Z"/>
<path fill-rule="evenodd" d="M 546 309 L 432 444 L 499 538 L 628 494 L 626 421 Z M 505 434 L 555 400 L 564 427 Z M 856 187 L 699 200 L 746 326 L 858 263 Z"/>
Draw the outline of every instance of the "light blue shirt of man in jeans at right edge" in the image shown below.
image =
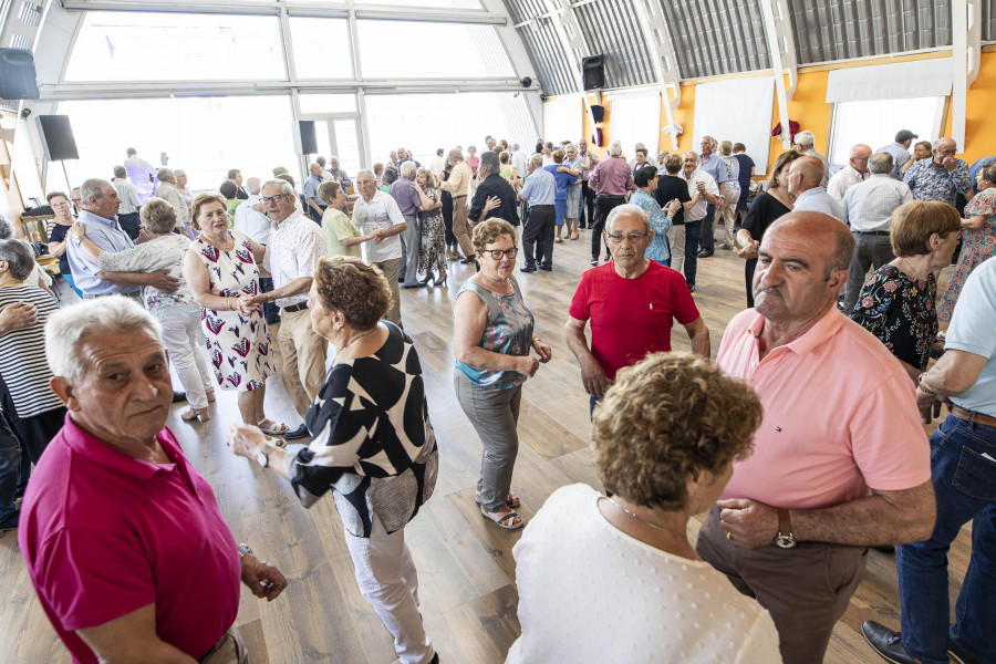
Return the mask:
<path fill-rule="evenodd" d="M 975 385 L 951 401 L 966 411 L 996 417 L 996 260 L 985 261 L 968 274 L 944 347 L 988 357 Z"/>

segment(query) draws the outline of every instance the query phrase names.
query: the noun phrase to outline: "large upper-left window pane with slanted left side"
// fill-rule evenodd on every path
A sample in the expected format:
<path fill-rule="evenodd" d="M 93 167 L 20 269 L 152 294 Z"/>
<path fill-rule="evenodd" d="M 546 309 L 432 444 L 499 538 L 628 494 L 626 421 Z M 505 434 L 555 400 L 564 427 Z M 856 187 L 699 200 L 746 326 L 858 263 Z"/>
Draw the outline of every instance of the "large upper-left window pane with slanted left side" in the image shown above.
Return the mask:
<path fill-rule="evenodd" d="M 65 80 L 284 79 L 276 17 L 92 11 Z"/>

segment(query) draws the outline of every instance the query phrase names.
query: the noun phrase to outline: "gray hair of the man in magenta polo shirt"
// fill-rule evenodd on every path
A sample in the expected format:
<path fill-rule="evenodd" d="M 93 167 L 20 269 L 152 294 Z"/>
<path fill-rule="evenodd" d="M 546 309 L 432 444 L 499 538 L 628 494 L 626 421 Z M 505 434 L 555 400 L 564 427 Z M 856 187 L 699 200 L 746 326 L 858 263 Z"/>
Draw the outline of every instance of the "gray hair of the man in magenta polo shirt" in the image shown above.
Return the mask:
<path fill-rule="evenodd" d="M 91 334 L 131 330 L 142 330 L 163 345 L 159 322 L 131 298 L 111 295 L 60 309 L 49 317 L 45 324 L 49 369 L 53 375 L 69 381 L 70 385 L 79 385 L 89 369 L 80 356 L 83 341 Z"/>

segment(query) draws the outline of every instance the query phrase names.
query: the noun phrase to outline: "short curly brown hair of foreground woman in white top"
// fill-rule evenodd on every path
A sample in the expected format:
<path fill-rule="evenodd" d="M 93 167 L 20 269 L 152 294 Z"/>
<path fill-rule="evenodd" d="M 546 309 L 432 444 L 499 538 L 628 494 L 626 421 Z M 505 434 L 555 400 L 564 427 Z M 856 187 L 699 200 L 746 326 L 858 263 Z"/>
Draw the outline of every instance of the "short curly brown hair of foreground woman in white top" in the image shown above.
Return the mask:
<path fill-rule="evenodd" d="M 595 467 L 629 502 L 682 509 L 688 480 L 750 454 L 761 414 L 750 385 L 712 361 L 654 353 L 621 370 L 595 407 Z"/>

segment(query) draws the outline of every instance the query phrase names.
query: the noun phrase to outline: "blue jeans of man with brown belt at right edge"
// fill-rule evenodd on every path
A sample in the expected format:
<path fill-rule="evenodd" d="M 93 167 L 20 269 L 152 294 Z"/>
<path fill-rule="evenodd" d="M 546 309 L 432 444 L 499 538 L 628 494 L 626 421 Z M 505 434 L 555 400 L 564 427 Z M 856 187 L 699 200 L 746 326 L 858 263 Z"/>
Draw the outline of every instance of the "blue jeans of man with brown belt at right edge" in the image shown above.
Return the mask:
<path fill-rule="evenodd" d="M 947 641 L 979 664 L 996 662 L 996 427 L 948 415 L 931 436 L 937 521 L 931 539 L 896 552 L 903 644 L 926 664 L 947 664 Z M 948 629 L 947 550 L 972 521 L 972 560 Z"/>

